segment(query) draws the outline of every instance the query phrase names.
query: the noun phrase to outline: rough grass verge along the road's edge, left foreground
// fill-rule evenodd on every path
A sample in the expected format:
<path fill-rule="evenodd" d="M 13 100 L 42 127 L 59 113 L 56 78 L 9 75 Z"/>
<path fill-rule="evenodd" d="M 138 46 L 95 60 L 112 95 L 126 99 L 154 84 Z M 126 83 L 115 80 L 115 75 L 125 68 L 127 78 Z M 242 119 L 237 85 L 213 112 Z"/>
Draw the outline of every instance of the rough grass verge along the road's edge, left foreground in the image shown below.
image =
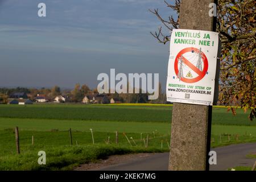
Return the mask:
<path fill-rule="evenodd" d="M 29 151 L 20 155 L 0 157 L 0 170 L 72 170 L 82 163 L 95 162 L 105 159 L 109 155 L 129 154 L 134 152 L 163 152 L 156 148 L 142 147 L 117 147 L 107 145 L 94 146 L 59 146 L 36 148 L 30 147 Z M 46 165 L 38 164 L 39 150 L 46 151 Z"/>

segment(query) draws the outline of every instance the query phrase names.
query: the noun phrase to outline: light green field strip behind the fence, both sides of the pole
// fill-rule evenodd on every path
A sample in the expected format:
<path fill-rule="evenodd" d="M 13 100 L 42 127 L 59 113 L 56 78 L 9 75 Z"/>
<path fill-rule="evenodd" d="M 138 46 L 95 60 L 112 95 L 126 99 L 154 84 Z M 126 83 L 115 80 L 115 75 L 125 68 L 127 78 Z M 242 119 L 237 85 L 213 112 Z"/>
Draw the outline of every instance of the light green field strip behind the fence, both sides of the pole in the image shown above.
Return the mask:
<path fill-rule="evenodd" d="M 156 122 L 111 122 L 111 121 L 82 121 L 82 120 L 57 120 L 57 119 L 19 119 L 0 118 L 0 130 L 13 129 L 19 126 L 20 130 L 30 131 L 59 131 L 72 130 L 89 131 L 93 128 L 99 132 L 127 132 L 127 133 L 152 133 L 157 130 L 160 134 L 169 134 L 171 123 Z M 256 136 L 256 126 L 236 126 L 236 125 L 212 125 L 213 135 L 239 134 Z"/>

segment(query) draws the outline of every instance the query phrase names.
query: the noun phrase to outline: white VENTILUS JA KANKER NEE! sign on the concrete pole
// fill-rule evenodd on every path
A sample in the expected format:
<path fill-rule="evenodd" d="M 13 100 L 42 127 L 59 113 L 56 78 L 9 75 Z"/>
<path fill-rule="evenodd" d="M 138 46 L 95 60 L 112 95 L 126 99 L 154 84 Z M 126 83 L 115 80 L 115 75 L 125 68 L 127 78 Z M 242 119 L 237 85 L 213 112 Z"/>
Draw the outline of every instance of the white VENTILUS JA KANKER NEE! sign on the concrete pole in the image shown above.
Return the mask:
<path fill-rule="evenodd" d="M 219 38 L 217 32 L 176 29 L 170 40 L 167 101 L 213 105 Z M 217 74 L 218 75 L 218 74 Z"/>

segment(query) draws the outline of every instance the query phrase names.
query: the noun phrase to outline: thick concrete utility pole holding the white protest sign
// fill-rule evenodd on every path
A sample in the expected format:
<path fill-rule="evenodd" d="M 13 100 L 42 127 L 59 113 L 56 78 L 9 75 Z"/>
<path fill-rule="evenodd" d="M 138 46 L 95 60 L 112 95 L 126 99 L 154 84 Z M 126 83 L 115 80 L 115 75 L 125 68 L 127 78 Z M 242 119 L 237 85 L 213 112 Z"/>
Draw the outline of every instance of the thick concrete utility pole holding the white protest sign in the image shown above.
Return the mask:
<path fill-rule="evenodd" d="M 181 0 L 179 28 L 215 31 L 216 17 L 209 16 L 210 3 L 217 5 L 215 0 Z M 217 85 L 218 78 L 215 81 Z M 174 102 L 169 170 L 209 170 L 211 122 L 212 106 Z"/>

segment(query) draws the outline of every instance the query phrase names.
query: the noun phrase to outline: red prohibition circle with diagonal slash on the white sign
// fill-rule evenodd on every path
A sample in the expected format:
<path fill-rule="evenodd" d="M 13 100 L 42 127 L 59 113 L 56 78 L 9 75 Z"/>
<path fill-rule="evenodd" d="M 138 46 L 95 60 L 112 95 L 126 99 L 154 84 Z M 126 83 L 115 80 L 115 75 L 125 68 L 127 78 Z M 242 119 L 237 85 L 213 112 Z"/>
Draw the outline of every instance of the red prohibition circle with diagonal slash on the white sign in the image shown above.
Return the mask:
<path fill-rule="evenodd" d="M 183 55 L 184 53 L 187 52 L 195 52 L 195 53 L 200 53 L 201 54 L 201 59 L 203 60 L 204 63 L 204 69 L 201 71 L 199 68 L 197 68 L 195 65 L 193 65 L 189 60 L 187 60 Z M 189 68 L 191 68 L 194 72 L 197 73 L 197 77 L 195 78 L 185 78 L 185 77 L 181 77 L 180 80 L 183 82 L 187 82 L 187 83 L 195 83 L 197 81 L 200 81 L 205 74 L 208 71 L 208 60 L 207 57 L 205 56 L 205 54 L 203 52 L 201 52 L 199 49 L 195 48 L 195 47 L 188 47 L 188 48 L 184 48 L 182 49 L 176 56 L 175 61 L 174 61 L 174 70 L 176 75 L 179 75 L 179 68 L 178 68 L 178 64 L 179 64 L 179 60 L 182 57 L 182 62 L 187 65 Z"/>

